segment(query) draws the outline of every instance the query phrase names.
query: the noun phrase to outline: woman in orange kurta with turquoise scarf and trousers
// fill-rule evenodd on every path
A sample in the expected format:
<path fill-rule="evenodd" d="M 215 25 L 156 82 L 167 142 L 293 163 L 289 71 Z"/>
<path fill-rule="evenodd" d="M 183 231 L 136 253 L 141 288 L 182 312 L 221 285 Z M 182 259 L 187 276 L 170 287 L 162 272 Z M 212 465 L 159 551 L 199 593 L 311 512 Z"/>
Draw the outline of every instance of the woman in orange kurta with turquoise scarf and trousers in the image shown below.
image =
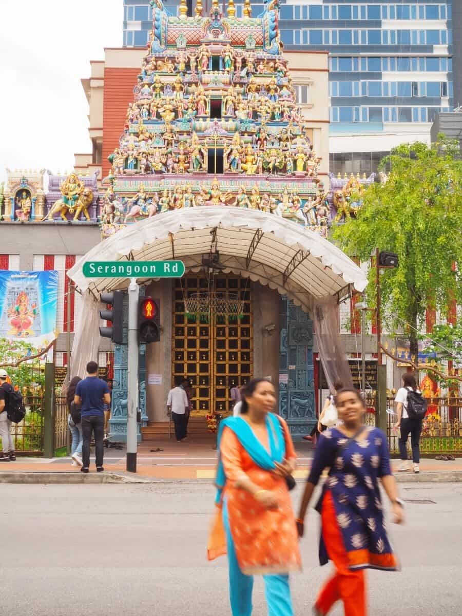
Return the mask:
<path fill-rule="evenodd" d="M 301 569 L 286 477 L 296 454 L 275 415 L 274 386 L 254 379 L 241 415 L 221 422 L 217 515 L 208 556 L 228 553 L 233 616 L 250 616 L 254 573 L 262 573 L 270 616 L 293 616 L 288 573 Z"/>

